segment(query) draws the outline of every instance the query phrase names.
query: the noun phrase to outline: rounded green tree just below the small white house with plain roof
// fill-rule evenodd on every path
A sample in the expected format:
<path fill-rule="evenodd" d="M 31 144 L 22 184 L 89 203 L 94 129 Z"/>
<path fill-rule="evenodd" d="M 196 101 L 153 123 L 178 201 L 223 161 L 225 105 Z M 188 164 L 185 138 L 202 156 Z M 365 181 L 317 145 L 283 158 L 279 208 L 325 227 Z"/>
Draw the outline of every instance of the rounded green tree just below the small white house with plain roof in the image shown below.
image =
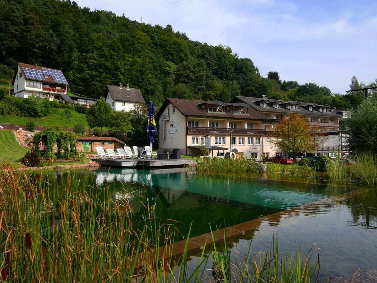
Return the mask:
<path fill-rule="evenodd" d="M 113 109 L 109 104 L 107 104 L 105 98 L 101 97 L 97 102 L 89 108 L 86 114 L 86 120 L 88 121 L 89 127 L 100 127 L 109 126 L 112 122 Z"/>

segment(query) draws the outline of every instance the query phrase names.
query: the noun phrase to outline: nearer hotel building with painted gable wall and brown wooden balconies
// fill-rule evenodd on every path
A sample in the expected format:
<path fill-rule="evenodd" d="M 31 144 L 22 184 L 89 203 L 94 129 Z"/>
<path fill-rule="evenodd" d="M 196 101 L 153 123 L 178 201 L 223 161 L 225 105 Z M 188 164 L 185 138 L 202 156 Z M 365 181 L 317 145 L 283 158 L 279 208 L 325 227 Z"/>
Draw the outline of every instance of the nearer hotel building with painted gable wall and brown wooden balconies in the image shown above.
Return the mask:
<path fill-rule="evenodd" d="M 167 98 L 156 114 L 159 148 L 184 154 L 223 155 L 231 149 L 246 158 L 263 156 L 264 115 L 245 103 Z M 205 149 L 205 138 L 211 147 Z"/>

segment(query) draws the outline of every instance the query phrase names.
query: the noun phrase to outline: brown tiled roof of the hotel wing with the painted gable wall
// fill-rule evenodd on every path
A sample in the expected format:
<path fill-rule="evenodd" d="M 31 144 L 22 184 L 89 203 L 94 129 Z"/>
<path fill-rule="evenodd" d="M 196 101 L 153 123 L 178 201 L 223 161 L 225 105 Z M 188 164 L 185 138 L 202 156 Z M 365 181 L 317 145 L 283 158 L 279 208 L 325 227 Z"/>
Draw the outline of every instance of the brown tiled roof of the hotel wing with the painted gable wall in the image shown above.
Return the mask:
<path fill-rule="evenodd" d="M 207 112 L 205 111 L 200 103 L 207 103 L 204 100 L 189 100 L 181 98 L 166 98 L 164 104 L 159 109 L 156 114 L 156 118 L 162 114 L 168 103 L 171 103 L 175 108 L 181 112 L 183 115 L 192 115 L 192 116 L 205 116 L 213 118 L 227 118 L 227 119 L 253 119 L 253 120 L 264 120 L 264 116 L 258 111 L 255 111 L 253 108 L 248 107 L 248 113 L 231 113 L 229 111 L 225 112 Z M 224 105 L 229 105 L 229 103 L 224 103 Z"/>

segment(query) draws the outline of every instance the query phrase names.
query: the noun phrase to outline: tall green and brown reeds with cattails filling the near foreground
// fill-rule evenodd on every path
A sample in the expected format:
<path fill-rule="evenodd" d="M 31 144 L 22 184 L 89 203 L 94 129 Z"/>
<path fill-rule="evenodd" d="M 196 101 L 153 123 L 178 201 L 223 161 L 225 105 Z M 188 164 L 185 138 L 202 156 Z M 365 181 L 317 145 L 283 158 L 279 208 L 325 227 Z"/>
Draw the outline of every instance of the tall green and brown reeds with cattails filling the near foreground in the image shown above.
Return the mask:
<path fill-rule="evenodd" d="M 222 282 L 317 281 L 319 264 L 311 263 L 314 251 L 287 256 L 279 252 L 276 240 L 269 252 L 252 255 L 250 247 L 237 260 L 230 256 L 226 234 L 219 245 L 202 250 L 198 265 L 189 272 L 188 240 L 175 261 L 167 249 L 179 231 L 153 217 L 134 223 L 127 198 L 132 192 L 126 186 L 120 201 L 108 188 L 89 184 L 74 175 L 62 182 L 59 175 L 0 170 L 4 281 L 202 282 L 208 281 L 208 270 L 210 280 Z M 216 233 L 219 230 L 211 234 L 213 243 Z M 210 251 L 213 266 L 206 255 Z"/>

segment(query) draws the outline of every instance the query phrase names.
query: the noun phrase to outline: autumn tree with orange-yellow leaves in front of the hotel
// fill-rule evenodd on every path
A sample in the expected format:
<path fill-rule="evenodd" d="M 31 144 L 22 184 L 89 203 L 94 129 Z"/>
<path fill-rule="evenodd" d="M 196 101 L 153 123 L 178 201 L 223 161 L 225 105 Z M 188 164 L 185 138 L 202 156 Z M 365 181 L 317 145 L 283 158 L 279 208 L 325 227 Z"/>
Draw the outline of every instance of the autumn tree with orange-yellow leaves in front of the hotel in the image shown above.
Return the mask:
<path fill-rule="evenodd" d="M 311 126 L 307 118 L 298 114 L 283 118 L 267 137 L 276 148 L 291 152 L 293 158 L 299 152 L 316 151 L 325 139 L 318 127 Z"/>

